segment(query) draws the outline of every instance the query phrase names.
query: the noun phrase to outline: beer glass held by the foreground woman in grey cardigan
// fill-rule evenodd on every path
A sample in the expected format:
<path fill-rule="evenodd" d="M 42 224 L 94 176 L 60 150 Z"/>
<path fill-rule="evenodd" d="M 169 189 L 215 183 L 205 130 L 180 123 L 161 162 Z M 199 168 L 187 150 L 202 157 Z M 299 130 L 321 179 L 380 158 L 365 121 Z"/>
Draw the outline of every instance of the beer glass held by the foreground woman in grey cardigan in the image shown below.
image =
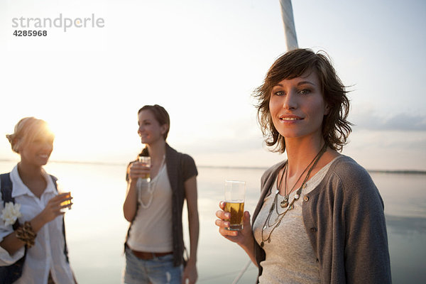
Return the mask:
<path fill-rule="evenodd" d="M 229 219 L 230 231 L 243 229 L 244 198 L 246 196 L 246 182 L 239 180 L 225 180 L 225 212 L 231 213 Z"/>

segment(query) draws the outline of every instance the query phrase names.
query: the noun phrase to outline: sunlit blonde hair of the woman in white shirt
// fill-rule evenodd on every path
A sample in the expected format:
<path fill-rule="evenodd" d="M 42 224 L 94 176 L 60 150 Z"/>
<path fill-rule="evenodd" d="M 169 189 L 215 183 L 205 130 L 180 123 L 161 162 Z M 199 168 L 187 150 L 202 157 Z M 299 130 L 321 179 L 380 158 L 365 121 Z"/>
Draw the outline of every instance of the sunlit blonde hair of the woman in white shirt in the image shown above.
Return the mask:
<path fill-rule="evenodd" d="M 55 138 L 46 121 L 31 116 L 21 119 L 16 124 L 14 132 L 7 134 L 6 138 L 11 143 L 12 151 L 19 153 L 24 143 L 32 143 L 34 138 L 40 135 Z"/>

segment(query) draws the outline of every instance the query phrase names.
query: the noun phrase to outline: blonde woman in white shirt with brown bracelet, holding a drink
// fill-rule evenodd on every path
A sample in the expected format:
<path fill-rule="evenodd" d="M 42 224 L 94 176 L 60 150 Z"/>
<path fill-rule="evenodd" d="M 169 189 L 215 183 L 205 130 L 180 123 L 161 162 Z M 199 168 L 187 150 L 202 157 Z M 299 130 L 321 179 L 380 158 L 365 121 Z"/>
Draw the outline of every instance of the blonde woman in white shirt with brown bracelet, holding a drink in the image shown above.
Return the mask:
<path fill-rule="evenodd" d="M 45 121 L 26 117 L 6 137 L 21 161 L 1 175 L 0 282 L 75 283 L 61 212 L 71 206 L 61 202 L 72 197 L 58 195 L 56 178 L 43 170 L 53 151 L 54 135 Z M 18 217 L 15 222 L 6 219 L 11 205 Z"/>

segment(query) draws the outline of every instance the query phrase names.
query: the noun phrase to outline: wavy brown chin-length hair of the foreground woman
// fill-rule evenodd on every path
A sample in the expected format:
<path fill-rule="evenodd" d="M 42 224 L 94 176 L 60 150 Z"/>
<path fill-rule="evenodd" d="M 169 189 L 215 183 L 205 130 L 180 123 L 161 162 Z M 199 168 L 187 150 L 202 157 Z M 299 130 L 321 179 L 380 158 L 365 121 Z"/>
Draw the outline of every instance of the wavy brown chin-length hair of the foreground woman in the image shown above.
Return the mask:
<path fill-rule="evenodd" d="M 337 151 L 342 151 L 352 129 L 346 120 L 349 114 L 349 99 L 346 97 L 346 87 L 337 76 L 331 59 L 324 51 L 314 53 L 310 49 L 295 49 L 281 55 L 266 73 L 263 84 L 256 88 L 253 97 L 256 104 L 258 122 L 261 125 L 263 137 L 267 146 L 275 146 L 273 152 L 285 152 L 285 139 L 273 125 L 269 101 L 272 88 L 285 79 L 300 77 L 305 72 L 315 72 L 320 79 L 324 101 L 329 105 L 329 114 L 322 122 L 322 136 L 327 145 Z"/>

